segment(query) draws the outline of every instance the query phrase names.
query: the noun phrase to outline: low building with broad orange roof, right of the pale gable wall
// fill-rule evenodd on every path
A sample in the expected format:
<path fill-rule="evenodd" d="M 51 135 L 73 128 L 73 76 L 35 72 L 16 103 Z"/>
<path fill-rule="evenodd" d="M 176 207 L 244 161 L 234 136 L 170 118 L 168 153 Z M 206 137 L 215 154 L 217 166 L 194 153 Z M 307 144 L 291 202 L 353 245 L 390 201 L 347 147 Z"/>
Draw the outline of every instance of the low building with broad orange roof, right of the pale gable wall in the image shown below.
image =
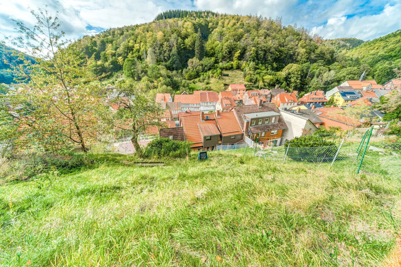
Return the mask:
<path fill-rule="evenodd" d="M 314 112 L 323 121 L 323 126 L 326 129 L 329 127 L 341 127 L 343 131 L 346 131 L 358 128 L 362 124 L 358 119 L 343 115 L 344 110 L 340 107 L 323 107 L 314 109 Z"/>

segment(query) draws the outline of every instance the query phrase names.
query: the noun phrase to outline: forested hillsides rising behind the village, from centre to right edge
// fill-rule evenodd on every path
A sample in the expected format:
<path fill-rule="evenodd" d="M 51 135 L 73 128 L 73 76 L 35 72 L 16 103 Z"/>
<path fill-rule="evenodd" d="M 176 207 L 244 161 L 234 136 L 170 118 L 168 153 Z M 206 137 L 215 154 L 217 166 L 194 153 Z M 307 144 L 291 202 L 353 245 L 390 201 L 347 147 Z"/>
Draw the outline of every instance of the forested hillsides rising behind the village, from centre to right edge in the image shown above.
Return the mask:
<path fill-rule="evenodd" d="M 307 92 L 359 79 L 365 70 L 366 79 L 385 83 L 400 68 L 395 53 L 400 46 L 394 49 L 397 44 L 391 41 L 388 48 L 394 53 L 367 51 L 395 36 L 399 33 L 363 44 L 355 38 L 323 40 L 303 27 L 283 26 L 279 19 L 169 10 L 154 22 L 109 29 L 77 42 L 95 58 L 95 75 L 124 73 L 142 85 L 168 87 L 168 92 L 188 89 L 187 80 L 206 80 L 207 85 L 230 69 L 240 69 L 245 82 L 259 87 Z"/>

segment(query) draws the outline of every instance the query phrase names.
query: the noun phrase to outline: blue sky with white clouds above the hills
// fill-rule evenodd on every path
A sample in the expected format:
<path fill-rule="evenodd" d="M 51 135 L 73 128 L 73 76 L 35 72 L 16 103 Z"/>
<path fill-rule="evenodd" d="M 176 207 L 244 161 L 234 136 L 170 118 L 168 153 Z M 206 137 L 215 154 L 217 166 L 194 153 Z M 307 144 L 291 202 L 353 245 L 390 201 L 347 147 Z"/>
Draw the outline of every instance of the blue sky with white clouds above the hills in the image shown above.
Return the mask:
<path fill-rule="evenodd" d="M 0 0 L 0 39 L 15 34 L 12 19 L 34 23 L 29 8 L 45 8 L 63 22 L 71 39 L 126 25 L 150 22 L 168 9 L 282 17 L 283 25 L 304 26 L 323 38 L 363 40 L 401 29 L 401 0 Z"/>

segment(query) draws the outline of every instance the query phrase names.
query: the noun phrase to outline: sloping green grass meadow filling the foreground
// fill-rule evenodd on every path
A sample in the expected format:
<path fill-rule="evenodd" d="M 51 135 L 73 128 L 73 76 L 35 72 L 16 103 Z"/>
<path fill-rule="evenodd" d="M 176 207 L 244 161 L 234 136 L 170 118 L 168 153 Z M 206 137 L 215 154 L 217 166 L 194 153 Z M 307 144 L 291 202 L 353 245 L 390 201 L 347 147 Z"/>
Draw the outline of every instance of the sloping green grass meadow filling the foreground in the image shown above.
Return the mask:
<path fill-rule="evenodd" d="M 91 157 L 0 183 L 0 266 L 380 266 L 401 227 L 397 178 L 238 151 Z"/>

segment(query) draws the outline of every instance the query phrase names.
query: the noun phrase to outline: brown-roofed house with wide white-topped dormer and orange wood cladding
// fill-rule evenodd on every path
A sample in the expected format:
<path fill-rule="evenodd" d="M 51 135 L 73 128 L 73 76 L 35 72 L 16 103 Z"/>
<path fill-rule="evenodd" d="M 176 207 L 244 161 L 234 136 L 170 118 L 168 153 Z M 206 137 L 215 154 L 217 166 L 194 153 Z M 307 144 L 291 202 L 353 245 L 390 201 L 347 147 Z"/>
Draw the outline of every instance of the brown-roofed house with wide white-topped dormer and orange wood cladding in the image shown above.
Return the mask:
<path fill-rule="evenodd" d="M 233 111 L 243 129 L 243 140 L 249 143 L 258 138 L 261 142 L 280 144 L 287 125 L 273 103 L 263 104 L 259 100 L 257 105 L 235 106 Z"/>

